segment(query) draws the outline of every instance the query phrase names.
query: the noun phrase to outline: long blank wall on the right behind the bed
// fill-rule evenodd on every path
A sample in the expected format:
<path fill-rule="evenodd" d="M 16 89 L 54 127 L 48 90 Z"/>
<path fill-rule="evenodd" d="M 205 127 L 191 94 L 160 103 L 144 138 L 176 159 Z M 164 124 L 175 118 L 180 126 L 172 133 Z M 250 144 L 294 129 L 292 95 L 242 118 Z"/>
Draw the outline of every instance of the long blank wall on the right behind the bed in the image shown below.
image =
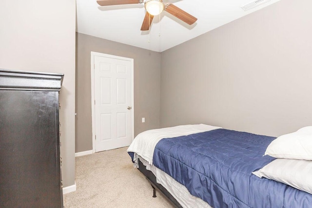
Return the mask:
<path fill-rule="evenodd" d="M 160 126 L 278 136 L 312 125 L 311 0 L 281 0 L 161 53 Z"/>

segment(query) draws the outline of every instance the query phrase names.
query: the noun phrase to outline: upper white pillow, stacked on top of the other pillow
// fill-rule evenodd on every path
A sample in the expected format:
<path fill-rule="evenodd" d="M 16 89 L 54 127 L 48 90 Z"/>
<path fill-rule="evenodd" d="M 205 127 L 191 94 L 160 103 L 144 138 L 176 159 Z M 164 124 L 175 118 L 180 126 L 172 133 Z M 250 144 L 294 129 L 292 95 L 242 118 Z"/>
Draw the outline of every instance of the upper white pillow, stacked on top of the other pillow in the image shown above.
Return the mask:
<path fill-rule="evenodd" d="M 275 158 L 312 160 L 312 126 L 274 139 L 264 155 Z"/>

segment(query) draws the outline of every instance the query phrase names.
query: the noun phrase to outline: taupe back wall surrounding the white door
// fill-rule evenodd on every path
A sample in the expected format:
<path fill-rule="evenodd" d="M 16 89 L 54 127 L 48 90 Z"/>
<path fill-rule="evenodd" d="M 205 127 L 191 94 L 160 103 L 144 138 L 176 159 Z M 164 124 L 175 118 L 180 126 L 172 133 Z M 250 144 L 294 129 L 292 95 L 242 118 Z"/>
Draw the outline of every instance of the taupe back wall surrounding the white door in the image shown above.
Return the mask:
<path fill-rule="evenodd" d="M 91 51 L 134 58 L 135 136 L 159 128 L 160 53 L 80 33 L 76 38 L 76 152 L 92 150 Z"/>

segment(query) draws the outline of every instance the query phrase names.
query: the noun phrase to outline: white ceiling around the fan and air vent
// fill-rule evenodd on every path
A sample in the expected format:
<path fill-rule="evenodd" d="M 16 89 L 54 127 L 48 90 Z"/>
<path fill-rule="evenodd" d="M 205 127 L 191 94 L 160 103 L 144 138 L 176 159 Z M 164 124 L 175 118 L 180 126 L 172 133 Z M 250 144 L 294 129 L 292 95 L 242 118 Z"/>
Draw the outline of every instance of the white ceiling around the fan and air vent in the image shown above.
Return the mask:
<path fill-rule="evenodd" d="M 150 31 L 143 32 L 140 28 L 144 3 L 99 6 L 96 0 L 76 1 L 78 33 L 162 52 L 279 0 L 270 0 L 246 12 L 240 7 L 252 0 L 164 0 L 198 20 L 190 26 L 162 12 L 160 17 L 154 17 Z"/>

